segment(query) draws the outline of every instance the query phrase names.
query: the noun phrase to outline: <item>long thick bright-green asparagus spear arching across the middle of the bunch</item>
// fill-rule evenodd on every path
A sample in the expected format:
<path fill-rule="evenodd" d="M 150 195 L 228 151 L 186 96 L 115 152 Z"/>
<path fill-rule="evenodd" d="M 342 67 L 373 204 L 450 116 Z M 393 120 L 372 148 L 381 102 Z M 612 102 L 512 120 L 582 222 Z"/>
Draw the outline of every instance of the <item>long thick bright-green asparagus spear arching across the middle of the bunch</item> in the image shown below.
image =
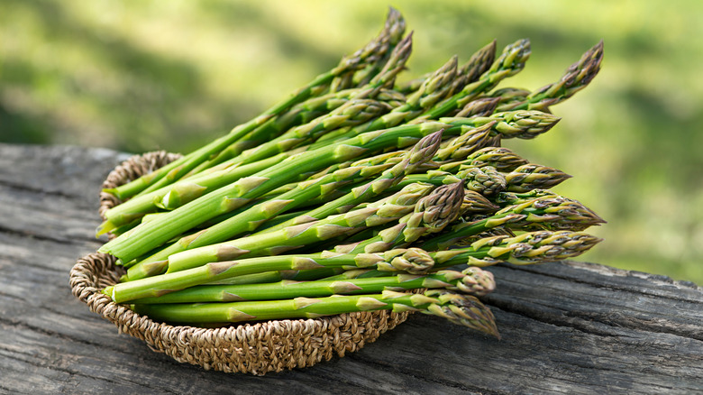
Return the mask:
<path fill-rule="evenodd" d="M 559 118 L 537 111 L 521 111 L 520 114 L 498 113 L 486 118 L 452 118 L 451 124 L 425 122 L 405 124 L 390 129 L 362 133 L 352 139 L 327 145 L 314 151 L 301 152 L 279 162 L 267 170 L 197 198 L 185 206 L 178 207 L 157 220 L 138 225 L 121 234 L 100 248 L 101 253 L 112 253 L 123 262 L 148 253 L 169 239 L 187 232 L 188 229 L 206 220 L 242 207 L 253 198 L 296 179 L 300 173 L 324 169 L 334 163 L 349 161 L 362 154 L 379 152 L 387 147 L 406 147 L 430 133 L 444 129 L 444 134 L 456 135 L 471 130 L 476 125 L 498 121 L 492 132 L 507 137 L 532 137 L 549 130 Z M 534 117 L 534 120 L 531 120 Z M 148 235 L 148 236 L 147 236 Z"/>

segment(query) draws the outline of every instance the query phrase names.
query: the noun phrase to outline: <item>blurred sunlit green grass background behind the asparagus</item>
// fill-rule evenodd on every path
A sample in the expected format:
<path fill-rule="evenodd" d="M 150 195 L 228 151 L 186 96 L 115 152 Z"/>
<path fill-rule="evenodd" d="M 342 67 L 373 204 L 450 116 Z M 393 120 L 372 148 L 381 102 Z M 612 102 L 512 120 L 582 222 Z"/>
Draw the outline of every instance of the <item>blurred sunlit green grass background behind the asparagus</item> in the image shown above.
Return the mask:
<path fill-rule="evenodd" d="M 574 176 L 608 224 L 580 258 L 703 284 L 703 3 L 698 1 L 39 1 L 0 3 L 0 142 L 189 152 L 330 69 L 381 27 L 415 31 L 404 78 L 498 39 L 532 41 L 500 87 L 535 89 L 600 39 L 603 68 L 505 145 Z"/>

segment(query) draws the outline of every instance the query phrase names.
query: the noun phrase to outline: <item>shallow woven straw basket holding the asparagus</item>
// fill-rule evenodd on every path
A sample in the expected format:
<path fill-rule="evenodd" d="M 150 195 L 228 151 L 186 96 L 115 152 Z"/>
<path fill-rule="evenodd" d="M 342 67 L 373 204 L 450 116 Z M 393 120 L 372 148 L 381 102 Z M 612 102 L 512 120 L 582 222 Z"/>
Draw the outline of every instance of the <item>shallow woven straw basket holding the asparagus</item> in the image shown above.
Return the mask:
<path fill-rule="evenodd" d="M 133 156 L 109 174 L 103 188 L 122 185 L 176 159 L 178 155 L 167 152 Z M 112 195 L 101 193 L 100 216 L 119 203 Z M 100 292 L 124 273 L 114 262 L 115 258 L 105 253 L 79 259 L 70 272 L 73 295 L 113 322 L 121 333 L 142 339 L 152 350 L 178 362 L 197 364 L 206 370 L 263 375 L 311 366 L 359 350 L 405 321 L 408 314 L 381 310 L 220 328 L 171 326 L 140 316 Z"/>

